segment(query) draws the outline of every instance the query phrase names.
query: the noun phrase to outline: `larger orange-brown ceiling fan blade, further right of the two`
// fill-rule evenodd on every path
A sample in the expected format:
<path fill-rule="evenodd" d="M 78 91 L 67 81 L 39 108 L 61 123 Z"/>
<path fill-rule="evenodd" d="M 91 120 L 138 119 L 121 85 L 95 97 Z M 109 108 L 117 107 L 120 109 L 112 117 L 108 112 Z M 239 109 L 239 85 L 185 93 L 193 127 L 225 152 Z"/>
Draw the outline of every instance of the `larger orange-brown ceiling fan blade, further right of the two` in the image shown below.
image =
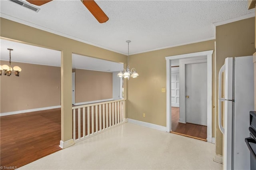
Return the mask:
<path fill-rule="evenodd" d="M 81 0 L 86 8 L 92 13 L 92 15 L 98 20 L 99 23 L 108 21 L 108 16 L 102 11 L 102 9 L 96 4 L 94 0 Z"/>

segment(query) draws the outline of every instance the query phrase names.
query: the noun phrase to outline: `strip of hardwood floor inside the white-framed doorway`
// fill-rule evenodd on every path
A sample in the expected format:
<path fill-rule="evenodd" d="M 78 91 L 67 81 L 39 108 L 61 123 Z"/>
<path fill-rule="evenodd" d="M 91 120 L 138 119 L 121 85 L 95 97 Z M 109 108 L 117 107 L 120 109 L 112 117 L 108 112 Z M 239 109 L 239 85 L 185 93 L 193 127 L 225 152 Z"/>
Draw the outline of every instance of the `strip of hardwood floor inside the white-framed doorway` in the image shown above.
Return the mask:
<path fill-rule="evenodd" d="M 207 126 L 178 123 L 179 112 L 179 107 L 172 107 L 172 133 L 207 141 Z"/>

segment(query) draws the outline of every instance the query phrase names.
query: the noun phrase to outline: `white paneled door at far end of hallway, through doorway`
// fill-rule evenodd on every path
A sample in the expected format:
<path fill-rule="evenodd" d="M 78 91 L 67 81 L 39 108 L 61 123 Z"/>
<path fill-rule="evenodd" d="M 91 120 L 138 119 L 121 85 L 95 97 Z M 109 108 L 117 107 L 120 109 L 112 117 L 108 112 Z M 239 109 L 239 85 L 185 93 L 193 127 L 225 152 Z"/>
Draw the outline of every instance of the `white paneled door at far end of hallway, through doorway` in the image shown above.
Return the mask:
<path fill-rule="evenodd" d="M 180 73 L 178 73 L 178 67 L 172 67 L 171 77 L 171 106 L 180 107 Z"/>

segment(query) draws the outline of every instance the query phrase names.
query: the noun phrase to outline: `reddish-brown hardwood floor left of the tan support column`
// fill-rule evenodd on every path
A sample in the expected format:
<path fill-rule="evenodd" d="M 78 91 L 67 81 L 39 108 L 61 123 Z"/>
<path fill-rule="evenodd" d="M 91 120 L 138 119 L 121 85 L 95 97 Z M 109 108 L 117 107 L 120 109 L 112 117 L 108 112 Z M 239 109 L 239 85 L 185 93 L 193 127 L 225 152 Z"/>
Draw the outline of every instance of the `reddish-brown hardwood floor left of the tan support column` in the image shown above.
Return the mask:
<path fill-rule="evenodd" d="M 60 123 L 60 109 L 0 117 L 0 166 L 20 167 L 61 150 Z"/>

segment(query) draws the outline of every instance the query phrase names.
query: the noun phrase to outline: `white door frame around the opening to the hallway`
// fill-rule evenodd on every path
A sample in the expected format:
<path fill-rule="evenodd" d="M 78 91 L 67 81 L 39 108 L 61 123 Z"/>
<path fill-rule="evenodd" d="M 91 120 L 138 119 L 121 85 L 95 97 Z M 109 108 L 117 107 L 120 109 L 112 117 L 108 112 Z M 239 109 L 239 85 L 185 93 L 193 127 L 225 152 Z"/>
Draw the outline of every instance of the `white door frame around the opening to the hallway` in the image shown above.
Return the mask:
<path fill-rule="evenodd" d="M 191 57 L 207 57 L 207 141 L 212 142 L 212 53 L 213 50 L 172 55 L 166 59 L 166 132 L 172 130 L 172 109 L 171 109 L 171 61 L 174 59 L 185 59 Z"/>

